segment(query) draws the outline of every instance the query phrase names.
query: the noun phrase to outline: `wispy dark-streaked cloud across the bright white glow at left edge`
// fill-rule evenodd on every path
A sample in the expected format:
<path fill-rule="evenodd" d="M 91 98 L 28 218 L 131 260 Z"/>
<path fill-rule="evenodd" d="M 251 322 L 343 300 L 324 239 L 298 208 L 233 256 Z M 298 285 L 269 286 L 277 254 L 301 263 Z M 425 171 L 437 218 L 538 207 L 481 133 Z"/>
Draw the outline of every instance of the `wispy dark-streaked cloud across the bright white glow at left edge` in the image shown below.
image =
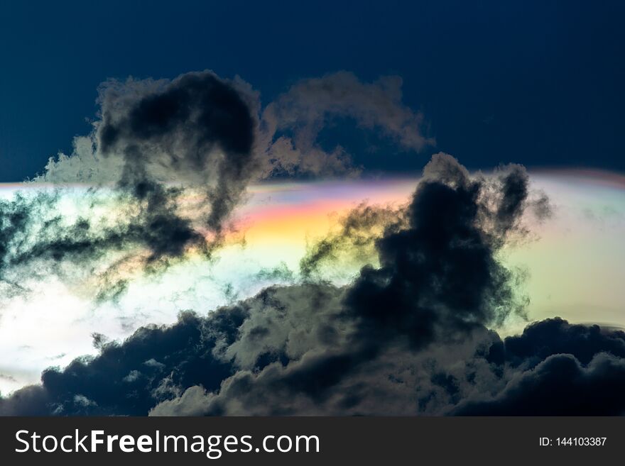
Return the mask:
<path fill-rule="evenodd" d="M 124 267 L 156 270 L 189 248 L 210 251 L 201 231 L 178 214 L 178 194 L 163 185 L 152 184 L 146 199 L 88 192 L 67 215 L 65 194 L 45 189 L 0 201 L 4 296 L 26 292 L 28 282 L 48 274 L 81 282 L 95 273 L 103 286 L 119 286 Z"/>

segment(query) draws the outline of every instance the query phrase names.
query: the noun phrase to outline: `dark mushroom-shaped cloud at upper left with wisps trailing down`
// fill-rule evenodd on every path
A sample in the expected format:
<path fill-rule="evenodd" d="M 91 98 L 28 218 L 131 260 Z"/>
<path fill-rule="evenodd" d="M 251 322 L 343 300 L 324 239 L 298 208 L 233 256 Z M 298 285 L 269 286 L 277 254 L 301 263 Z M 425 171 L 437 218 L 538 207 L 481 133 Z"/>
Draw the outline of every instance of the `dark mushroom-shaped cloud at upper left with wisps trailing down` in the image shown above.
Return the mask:
<path fill-rule="evenodd" d="M 119 184 L 148 199 L 148 209 L 167 193 L 156 184 L 159 172 L 206 187 L 207 225 L 219 230 L 255 174 L 258 117 L 250 101 L 212 72 L 183 74 L 166 83 L 109 84 L 100 96 L 98 147 L 104 156 L 121 154 Z M 157 199 L 150 203 L 151 196 Z M 170 239 L 188 240 L 184 235 Z"/>

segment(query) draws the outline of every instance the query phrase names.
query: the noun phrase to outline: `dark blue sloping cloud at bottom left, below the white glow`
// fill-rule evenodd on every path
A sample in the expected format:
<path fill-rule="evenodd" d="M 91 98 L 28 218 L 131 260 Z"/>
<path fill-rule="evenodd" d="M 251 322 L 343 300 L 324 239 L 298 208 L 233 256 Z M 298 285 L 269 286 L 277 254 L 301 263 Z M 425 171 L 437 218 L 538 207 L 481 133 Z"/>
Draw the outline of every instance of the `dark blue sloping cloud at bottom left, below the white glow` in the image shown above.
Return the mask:
<path fill-rule="evenodd" d="M 11 399 L 0 401 L 0 413 L 18 412 L 22 404 L 29 404 L 33 414 L 139 415 L 197 380 L 217 389 L 219 380 L 229 375 L 229 365 L 212 357 L 209 348 L 216 335 L 225 338 L 243 317 L 243 309 L 216 313 L 213 335 L 203 319 L 189 313 L 181 314 L 175 326 L 141 328 L 123 345 L 104 343 L 98 357 L 74 360 L 62 372 L 46 370 L 43 387 L 18 390 Z"/>

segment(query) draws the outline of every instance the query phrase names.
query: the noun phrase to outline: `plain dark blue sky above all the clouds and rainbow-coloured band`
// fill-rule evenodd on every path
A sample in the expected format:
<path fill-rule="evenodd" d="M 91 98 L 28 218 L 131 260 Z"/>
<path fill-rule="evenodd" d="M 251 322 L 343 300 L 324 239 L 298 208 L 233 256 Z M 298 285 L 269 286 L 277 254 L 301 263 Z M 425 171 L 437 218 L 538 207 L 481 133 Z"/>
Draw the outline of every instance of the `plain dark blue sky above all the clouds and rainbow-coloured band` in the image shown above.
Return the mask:
<path fill-rule="evenodd" d="M 0 181 L 69 152 L 107 77 L 207 68 L 265 103 L 303 77 L 399 74 L 433 150 L 469 167 L 625 171 L 624 13 L 623 1 L 3 1 Z M 345 138 L 374 170 L 427 161 Z"/>

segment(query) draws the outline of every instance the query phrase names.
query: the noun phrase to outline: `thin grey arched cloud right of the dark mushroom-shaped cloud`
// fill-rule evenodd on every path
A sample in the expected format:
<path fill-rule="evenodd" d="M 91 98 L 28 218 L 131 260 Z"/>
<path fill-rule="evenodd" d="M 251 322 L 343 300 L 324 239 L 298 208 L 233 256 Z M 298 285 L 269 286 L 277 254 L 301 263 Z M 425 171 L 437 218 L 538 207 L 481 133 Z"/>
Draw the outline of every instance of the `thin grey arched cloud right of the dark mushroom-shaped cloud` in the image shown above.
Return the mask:
<path fill-rule="evenodd" d="M 435 140 L 423 134 L 423 115 L 402 103 L 402 80 L 381 77 L 361 82 L 349 72 L 303 79 L 268 104 L 261 118 L 269 172 L 287 174 L 357 174 L 352 157 L 341 146 L 322 150 L 318 135 L 337 118 L 350 118 L 376 130 L 401 148 L 420 151 Z"/>

